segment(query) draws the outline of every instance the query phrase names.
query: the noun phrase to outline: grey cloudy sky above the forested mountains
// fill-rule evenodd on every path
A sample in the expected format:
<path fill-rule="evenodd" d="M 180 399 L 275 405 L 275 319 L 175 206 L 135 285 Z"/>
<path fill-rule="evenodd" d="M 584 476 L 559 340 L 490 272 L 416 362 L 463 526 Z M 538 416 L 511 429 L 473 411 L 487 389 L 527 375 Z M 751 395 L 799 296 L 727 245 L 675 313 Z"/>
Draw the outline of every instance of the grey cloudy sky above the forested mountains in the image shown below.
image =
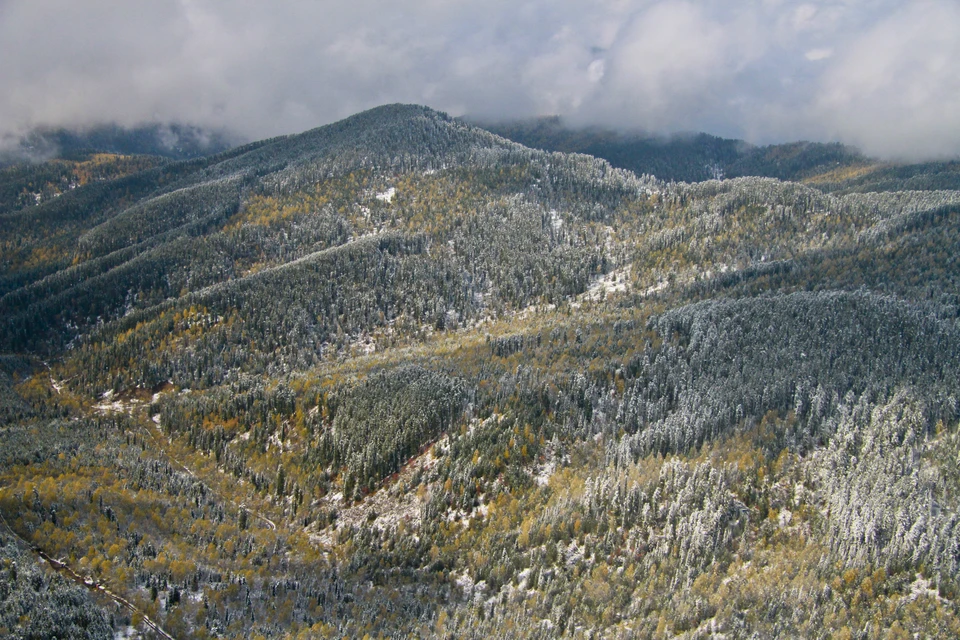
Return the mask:
<path fill-rule="evenodd" d="M 960 155 L 957 0 L 0 0 L 0 138 L 387 102 Z"/>

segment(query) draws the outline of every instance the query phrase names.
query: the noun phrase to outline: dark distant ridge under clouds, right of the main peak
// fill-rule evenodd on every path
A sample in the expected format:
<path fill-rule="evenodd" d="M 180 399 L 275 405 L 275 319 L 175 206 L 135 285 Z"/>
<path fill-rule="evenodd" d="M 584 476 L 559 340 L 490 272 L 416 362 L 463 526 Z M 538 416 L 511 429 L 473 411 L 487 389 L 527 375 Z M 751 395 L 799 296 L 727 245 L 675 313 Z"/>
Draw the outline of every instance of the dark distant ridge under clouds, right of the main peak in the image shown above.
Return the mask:
<path fill-rule="evenodd" d="M 556 116 L 477 125 L 529 147 L 586 153 L 637 175 L 667 181 L 763 176 L 836 193 L 960 189 L 960 162 L 880 162 L 838 143 L 758 147 L 705 133 L 656 137 L 598 127 L 576 129 Z"/>

